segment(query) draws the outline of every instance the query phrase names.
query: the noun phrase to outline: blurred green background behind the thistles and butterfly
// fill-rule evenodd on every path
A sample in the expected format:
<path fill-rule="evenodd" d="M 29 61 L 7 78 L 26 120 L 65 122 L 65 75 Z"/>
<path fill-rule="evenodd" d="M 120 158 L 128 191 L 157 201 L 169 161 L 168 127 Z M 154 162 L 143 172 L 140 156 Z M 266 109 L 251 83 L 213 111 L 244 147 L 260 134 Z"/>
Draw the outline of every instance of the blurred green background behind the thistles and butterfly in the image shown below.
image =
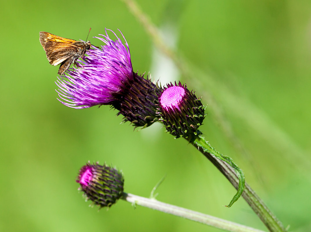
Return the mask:
<path fill-rule="evenodd" d="M 148 197 L 166 174 L 158 200 L 265 230 L 243 198 L 224 207 L 235 189 L 161 124 L 133 132 L 108 106 L 58 102 L 58 66 L 48 63 L 39 31 L 85 40 L 89 27 L 95 45 L 105 27 L 120 29 L 134 71 L 196 89 L 208 104 L 200 128 L 207 140 L 234 159 L 290 231 L 311 231 L 311 2 L 138 5 L 191 75 L 159 55 L 123 2 L 2 1 L 0 231 L 220 231 L 125 201 L 108 211 L 88 207 L 75 182 L 88 160 L 121 169 L 125 192 Z"/>

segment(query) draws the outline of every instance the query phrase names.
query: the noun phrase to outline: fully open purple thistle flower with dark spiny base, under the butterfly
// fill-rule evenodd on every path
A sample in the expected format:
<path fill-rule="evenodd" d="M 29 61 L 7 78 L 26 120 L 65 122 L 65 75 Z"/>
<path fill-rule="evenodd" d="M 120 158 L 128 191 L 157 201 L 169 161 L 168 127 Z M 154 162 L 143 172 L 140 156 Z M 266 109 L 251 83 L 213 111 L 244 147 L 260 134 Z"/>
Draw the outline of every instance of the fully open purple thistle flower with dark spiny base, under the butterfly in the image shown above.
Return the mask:
<path fill-rule="evenodd" d="M 158 119 L 160 89 L 148 76 L 146 80 L 144 75 L 133 72 L 128 43 L 123 34 L 126 46 L 114 35 L 115 41 L 109 38 L 107 30 L 106 35 L 95 37 L 105 43 L 102 50 L 89 50 L 77 68 L 68 69 L 65 76 L 58 78 L 58 100 L 76 109 L 111 105 L 119 111 L 118 115 L 124 116 L 124 121 L 136 127 L 149 126 Z"/>

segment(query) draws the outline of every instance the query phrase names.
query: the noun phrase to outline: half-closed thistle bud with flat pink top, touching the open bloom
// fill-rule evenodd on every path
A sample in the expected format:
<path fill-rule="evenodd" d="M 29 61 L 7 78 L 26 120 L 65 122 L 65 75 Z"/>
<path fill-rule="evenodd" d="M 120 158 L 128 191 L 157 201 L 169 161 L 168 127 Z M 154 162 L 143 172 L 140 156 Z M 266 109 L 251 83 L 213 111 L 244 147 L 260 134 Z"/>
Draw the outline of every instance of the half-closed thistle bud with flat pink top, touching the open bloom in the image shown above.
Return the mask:
<path fill-rule="evenodd" d="M 160 110 L 157 113 L 162 117 L 166 130 L 176 138 L 195 133 L 206 116 L 201 99 L 180 81 L 175 85 L 167 84 L 161 91 L 159 102 Z"/>

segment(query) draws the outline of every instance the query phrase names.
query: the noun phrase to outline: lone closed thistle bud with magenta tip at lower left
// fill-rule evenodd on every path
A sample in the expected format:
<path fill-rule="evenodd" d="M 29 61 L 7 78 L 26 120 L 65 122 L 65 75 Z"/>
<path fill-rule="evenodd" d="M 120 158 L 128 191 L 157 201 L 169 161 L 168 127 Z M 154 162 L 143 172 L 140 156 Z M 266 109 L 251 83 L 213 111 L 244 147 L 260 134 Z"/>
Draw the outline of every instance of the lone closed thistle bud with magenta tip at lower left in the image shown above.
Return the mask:
<path fill-rule="evenodd" d="M 77 182 L 86 199 L 100 208 L 112 206 L 123 194 L 122 173 L 105 164 L 87 163 L 81 167 Z"/>

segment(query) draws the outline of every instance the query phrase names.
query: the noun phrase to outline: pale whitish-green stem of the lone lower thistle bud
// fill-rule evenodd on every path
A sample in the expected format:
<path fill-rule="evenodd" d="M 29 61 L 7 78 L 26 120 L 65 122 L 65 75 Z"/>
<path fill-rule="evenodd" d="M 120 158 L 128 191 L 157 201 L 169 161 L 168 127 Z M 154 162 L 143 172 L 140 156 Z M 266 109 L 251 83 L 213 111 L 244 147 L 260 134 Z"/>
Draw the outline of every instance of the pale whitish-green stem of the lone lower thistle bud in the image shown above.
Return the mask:
<path fill-rule="evenodd" d="M 264 232 L 262 230 L 257 230 L 245 225 L 240 225 L 232 221 L 226 221 L 221 218 L 166 204 L 155 199 L 136 196 L 131 193 L 123 193 L 122 199 L 127 202 L 131 202 L 134 205 L 140 205 L 151 209 L 159 210 L 161 212 L 173 214 L 175 216 L 183 217 L 192 221 L 197 221 L 202 224 L 210 225 L 222 230 L 227 230 L 231 232 Z"/>

